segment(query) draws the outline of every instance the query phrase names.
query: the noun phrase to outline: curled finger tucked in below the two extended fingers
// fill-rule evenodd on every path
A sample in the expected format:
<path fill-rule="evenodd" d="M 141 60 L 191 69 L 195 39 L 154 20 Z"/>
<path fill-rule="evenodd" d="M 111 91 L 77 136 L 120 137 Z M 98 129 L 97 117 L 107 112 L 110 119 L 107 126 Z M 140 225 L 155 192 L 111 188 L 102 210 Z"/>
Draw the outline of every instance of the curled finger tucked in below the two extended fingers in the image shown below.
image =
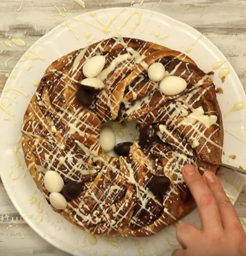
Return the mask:
<path fill-rule="evenodd" d="M 182 222 L 178 224 L 176 229 L 176 238 L 183 249 L 186 249 L 188 245 L 193 244 L 194 240 L 198 238 L 201 231 L 196 229 L 190 223 Z"/>

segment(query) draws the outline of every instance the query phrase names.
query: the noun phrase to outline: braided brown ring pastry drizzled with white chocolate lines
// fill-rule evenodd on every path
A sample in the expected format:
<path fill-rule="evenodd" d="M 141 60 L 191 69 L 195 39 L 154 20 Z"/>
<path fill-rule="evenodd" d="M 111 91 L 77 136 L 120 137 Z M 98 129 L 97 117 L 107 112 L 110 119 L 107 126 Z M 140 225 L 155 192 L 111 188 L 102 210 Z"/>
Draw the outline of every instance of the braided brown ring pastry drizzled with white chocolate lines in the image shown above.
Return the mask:
<path fill-rule="evenodd" d="M 87 58 L 105 55 L 105 88 L 90 107 L 76 93 Z M 112 68 L 112 63 L 116 64 Z M 187 81 L 180 94 L 167 96 L 149 80 L 147 67 L 161 62 L 169 75 Z M 188 118 L 195 110 L 193 125 Z M 200 117 L 215 116 L 206 126 Z M 152 124 L 157 139 L 147 148 L 135 140 L 127 157 L 111 157 L 99 144 L 102 124 Z M 180 172 L 193 164 L 216 172 L 221 162 L 223 128 L 213 73 L 204 73 L 187 55 L 162 45 L 110 38 L 68 53 L 51 63 L 30 101 L 22 126 L 22 149 L 33 180 L 50 203 L 47 170 L 64 183 L 81 186 L 63 210 L 69 222 L 93 234 L 147 236 L 190 213 L 195 203 Z M 153 176 L 167 176 L 162 196 L 148 188 Z"/>

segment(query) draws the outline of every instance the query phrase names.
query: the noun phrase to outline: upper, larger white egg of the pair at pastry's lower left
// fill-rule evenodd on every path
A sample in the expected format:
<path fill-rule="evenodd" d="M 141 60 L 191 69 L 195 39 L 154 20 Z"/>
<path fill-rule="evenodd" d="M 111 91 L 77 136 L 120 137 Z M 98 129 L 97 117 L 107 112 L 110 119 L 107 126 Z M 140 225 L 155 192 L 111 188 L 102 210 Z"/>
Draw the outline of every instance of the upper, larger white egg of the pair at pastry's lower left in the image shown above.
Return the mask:
<path fill-rule="evenodd" d="M 46 171 L 44 178 L 45 188 L 50 193 L 60 192 L 63 189 L 64 181 L 56 171 Z"/>

